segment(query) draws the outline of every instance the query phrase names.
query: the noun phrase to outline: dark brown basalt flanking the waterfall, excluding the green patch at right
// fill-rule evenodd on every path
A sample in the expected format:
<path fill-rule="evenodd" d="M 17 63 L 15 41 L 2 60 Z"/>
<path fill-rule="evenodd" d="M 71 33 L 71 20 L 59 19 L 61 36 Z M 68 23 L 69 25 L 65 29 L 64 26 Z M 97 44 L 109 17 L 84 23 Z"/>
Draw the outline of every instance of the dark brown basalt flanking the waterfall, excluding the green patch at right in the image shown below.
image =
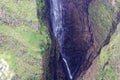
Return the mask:
<path fill-rule="evenodd" d="M 46 20 L 50 32 L 51 50 L 50 54 L 47 55 L 49 56 L 48 73 L 44 80 L 70 80 L 62 55 L 64 55 L 68 63 L 73 76 L 72 80 L 82 80 L 86 76 L 88 69 L 95 64 L 94 61 L 101 48 L 109 43 L 119 19 L 117 21 L 112 20 L 112 25 L 107 29 L 103 28 L 103 30 L 107 30 L 106 36 L 99 37 L 98 35 L 104 35 L 104 33 L 101 33 L 102 29 L 98 28 L 99 25 L 97 25 L 89 10 L 94 3 L 102 1 L 62 0 L 62 28 L 64 28 L 64 36 L 62 37 L 64 40 L 61 47 L 53 32 L 52 17 L 50 15 L 52 4 L 50 1 L 45 0 L 45 16 L 47 16 Z M 101 41 L 98 40 L 100 38 Z M 61 49 L 64 52 L 62 55 Z"/>

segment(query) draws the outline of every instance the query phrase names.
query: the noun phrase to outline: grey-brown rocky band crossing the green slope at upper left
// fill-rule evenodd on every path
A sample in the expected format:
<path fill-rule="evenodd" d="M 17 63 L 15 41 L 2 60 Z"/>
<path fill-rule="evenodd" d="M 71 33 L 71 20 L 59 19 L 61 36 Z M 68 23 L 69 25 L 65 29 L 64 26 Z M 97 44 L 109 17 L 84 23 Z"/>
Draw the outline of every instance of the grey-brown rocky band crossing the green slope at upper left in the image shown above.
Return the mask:
<path fill-rule="evenodd" d="M 31 28 L 34 28 L 36 30 L 39 29 L 39 23 L 34 23 L 32 21 L 26 21 L 26 20 L 22 20 L 17 18 L 16 16 L 14 16 L 13 14 L 8 14 L 6 11 L 6 8 L 2 7 L 2 9 L 0 9 L 0 22 L 6 24 L 6 25 L 10 25 L 12 27 L 17 27 L 17 26 L 21 26 L 21 25 L 26 25 L 29 26 Z"/>

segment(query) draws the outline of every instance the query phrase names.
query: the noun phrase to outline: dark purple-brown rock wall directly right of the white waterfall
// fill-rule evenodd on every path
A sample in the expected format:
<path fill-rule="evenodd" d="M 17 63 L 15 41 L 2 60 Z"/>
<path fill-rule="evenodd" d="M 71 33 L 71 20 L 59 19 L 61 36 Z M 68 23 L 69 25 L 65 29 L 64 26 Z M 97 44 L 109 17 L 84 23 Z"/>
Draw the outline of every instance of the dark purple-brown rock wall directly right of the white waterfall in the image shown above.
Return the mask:
<path fill-rule="evenodd" d="M 88 18 L 88 7 L 89 1 L 87 0 L 63 1 L 63 27 L 65 28 L 63 50 L 68 58 L 71 71 L 75 70 L 74 76 L 78 69 L 80 72 L 84 71 L 79 67 L 83 67 L 83 64 L 86 63 L 87 51 L 94 43 L 92 26 L 89 24 Z"/>

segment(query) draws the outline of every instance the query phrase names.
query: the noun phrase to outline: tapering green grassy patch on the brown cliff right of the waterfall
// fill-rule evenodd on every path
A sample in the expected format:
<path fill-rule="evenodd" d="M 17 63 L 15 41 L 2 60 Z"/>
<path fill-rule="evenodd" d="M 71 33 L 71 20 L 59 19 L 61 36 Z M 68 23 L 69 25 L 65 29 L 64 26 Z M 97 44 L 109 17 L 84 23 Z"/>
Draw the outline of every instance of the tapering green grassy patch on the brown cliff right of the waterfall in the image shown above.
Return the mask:
<path fill-rule="evenodd" d="M 107 4 L 110 3 L 107 1 Z M 115 18 L 112 7 L 106 5 L 106 0 L 99 0 L 94 2 L 89 12 L 93 18 L 94 24 L 97 26 L 95 27 L 97 39 L 99 42 L 103 43 L 110 31 L 110 28 L 112 27 L 112 22 Z"/>

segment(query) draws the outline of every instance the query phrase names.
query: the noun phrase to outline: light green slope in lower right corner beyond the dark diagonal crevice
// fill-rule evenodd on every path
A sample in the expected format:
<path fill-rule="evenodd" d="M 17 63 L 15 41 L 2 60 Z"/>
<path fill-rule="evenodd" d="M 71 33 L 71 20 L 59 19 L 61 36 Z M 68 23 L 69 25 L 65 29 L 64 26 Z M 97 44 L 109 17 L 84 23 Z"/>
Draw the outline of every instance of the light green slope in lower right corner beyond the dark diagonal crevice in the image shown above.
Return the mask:
<path fill-rule="evenodd" d="M 120 24 L 112 36 L 109 45 L 106 45 L 100 55 L 98 80 L 118 80 L 117 66 L 120 65 Z M 108 63 L 108 64 L 106 64 Z M 104 68 L 103 68 L 104 67 Z"/>

